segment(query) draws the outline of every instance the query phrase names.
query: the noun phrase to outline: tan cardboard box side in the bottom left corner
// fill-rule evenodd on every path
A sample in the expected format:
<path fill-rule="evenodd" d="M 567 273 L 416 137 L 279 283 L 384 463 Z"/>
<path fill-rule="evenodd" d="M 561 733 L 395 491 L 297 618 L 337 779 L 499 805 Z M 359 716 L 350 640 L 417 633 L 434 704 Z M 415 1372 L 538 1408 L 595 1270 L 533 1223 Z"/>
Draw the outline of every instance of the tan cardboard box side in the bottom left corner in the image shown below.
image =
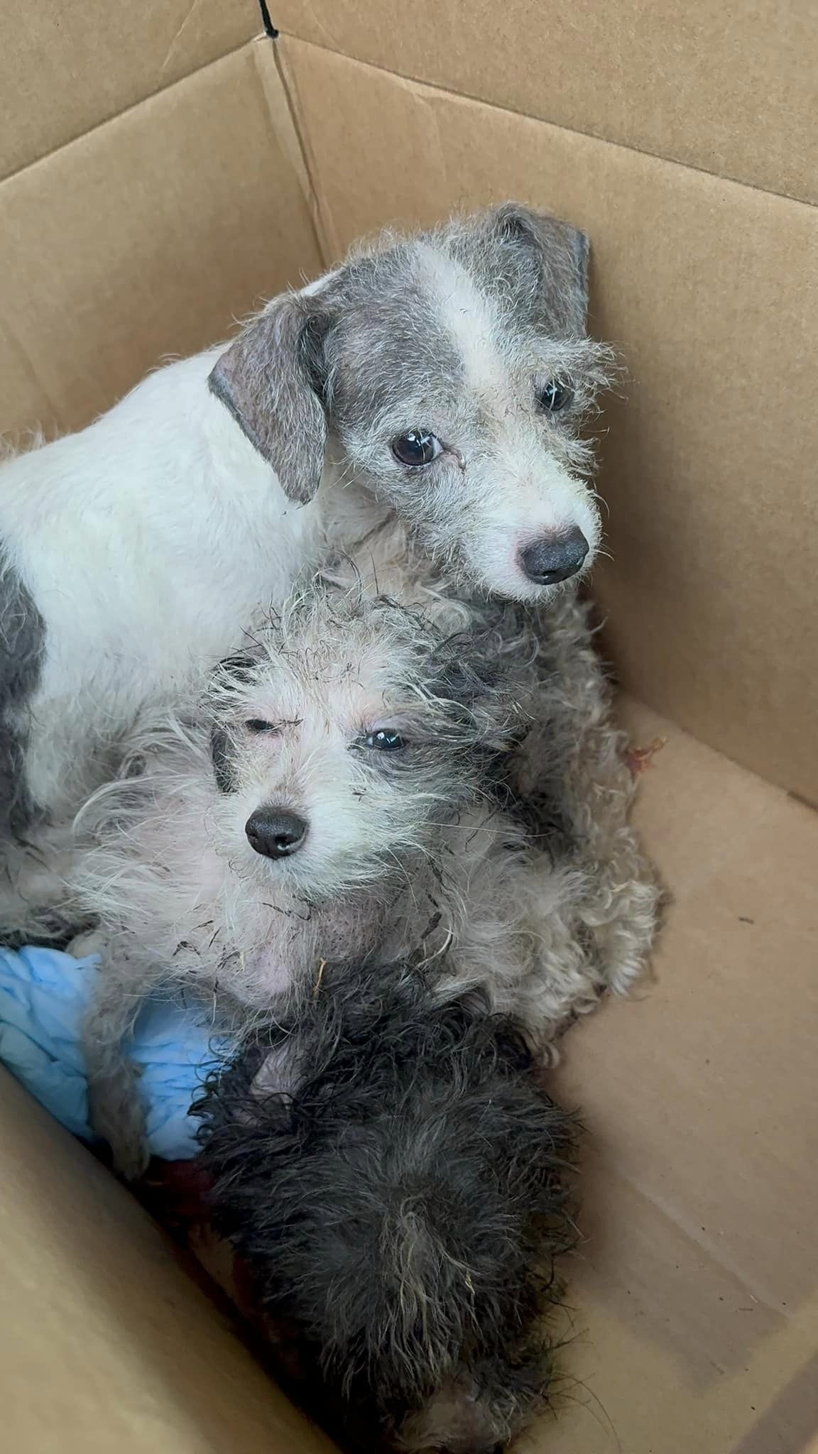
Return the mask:
<path fill-rule="evenodd" d="M 329 1454 L 134 1198 L 0 1092 L 4 1454 Z"/>

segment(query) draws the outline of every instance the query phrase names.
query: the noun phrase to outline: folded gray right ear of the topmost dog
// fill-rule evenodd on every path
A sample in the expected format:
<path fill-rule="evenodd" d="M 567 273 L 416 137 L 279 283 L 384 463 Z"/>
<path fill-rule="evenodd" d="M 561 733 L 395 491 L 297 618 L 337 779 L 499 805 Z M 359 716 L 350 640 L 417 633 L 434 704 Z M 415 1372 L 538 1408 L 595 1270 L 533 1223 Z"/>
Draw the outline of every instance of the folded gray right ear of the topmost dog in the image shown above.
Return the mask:
<path fill-rule="evenodd" d="M 584 333 L 591 250 L 587 233 L 520 202 L 498 206 L 492 224 L 504 241 L 534 262 L 541 301 L 556 326 L 569 334 Z"/>

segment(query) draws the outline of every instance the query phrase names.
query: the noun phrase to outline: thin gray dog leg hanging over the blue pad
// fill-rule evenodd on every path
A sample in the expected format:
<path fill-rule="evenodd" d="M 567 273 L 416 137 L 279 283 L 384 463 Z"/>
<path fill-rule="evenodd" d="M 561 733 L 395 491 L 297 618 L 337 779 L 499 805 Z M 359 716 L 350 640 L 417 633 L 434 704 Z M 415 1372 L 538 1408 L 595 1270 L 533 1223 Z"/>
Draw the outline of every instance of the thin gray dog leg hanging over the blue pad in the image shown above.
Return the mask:
<path fill-rule="evenodd" d="M 140 1072 L 127 1054 L 127 1041 L 150 984 L 134 974 L 125 955 L 98 933 L 71 944 L 77 957 L 99 954 L 98 986 L 83 1021 L 83 1050 L 87 1075 L 89 1120 L 108 1141 L 114 1166 L 125 1181 L 137 1181 L 150 1153 L 146 1115 L 140 1098 Z"/>

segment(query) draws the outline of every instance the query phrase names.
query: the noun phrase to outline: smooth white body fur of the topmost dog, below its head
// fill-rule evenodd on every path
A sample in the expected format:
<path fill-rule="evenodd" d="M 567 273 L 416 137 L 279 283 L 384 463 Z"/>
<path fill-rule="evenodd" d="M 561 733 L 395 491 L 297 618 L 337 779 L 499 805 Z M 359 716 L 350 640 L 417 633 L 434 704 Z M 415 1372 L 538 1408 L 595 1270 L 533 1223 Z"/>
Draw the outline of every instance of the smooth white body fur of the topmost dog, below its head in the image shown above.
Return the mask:
<path fill-rule="evenodd" d="M 0 538 L 48 628 L 28 772 L 57 813 L 77 803 L 89 731 L 116 736 L 239 646 L 317 538 L 322 500 L 293 506 L 208 391 L 220 352 L 1 468 Z"/>

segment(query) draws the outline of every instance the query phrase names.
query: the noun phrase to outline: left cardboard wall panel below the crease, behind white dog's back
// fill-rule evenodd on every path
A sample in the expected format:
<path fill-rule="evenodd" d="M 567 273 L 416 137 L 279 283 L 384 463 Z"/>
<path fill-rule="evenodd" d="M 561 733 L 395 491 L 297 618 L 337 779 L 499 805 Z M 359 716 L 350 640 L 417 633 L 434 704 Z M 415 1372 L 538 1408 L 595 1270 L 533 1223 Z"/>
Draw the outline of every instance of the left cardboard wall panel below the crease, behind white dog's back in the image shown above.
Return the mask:
<path fill-rule="evenodd" d="M 245 47 L 0 185 L 0 433 L 82 427 L 320 270 L 265 60 Z"/>

